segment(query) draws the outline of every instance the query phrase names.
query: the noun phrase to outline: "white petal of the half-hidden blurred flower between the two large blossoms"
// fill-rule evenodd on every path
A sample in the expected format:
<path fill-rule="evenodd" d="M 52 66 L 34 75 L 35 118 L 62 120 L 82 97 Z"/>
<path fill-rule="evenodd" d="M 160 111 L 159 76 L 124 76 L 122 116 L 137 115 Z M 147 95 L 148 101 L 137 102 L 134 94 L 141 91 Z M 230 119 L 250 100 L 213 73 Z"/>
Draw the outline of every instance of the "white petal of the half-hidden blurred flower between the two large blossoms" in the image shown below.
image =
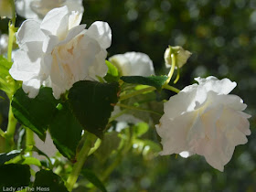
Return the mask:
<path fill-rule="evenodd" d="M 155 69 L 152 60 L 144 53 L 127 52 L 124 54 L 132 66 L 131 76 L 151 76 L 155 75 Z"/>

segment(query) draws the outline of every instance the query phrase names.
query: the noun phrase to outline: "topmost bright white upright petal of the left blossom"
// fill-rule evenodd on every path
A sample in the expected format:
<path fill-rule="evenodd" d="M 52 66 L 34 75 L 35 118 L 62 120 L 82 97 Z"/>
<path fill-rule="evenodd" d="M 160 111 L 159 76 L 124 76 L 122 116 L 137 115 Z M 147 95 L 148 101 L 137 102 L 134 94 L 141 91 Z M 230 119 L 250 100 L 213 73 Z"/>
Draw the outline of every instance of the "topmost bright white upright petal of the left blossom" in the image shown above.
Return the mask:
<path fill-rule="evenodd" d="M 66 37 L 69 30 L 69 10 L 67 6 L 52 9 L 44 17 L 40 26 L 41 30 L 48 36 L 54 35 L 59 38 Z"/>

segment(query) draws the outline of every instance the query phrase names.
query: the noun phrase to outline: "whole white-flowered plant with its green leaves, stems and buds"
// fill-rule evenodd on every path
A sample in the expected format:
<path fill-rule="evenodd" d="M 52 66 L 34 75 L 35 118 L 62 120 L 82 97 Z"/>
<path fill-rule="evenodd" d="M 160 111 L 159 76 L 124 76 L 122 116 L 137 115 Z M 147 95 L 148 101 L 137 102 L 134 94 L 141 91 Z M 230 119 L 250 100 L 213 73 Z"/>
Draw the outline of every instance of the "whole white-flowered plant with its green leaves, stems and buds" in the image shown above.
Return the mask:
<path fill-rule="evenodd" d="M 72 191 L 83 185 L 78 182 L 81 176 L 81 181 L 86 178 L 106 191 L 104 182 L 132 146 L 147 158 L 159 153 L 203 155 L 209 165 L 223 171 L 235 146 L 247 143 L 251 115 L 243 112 L 247 106 L 239 96 L 229 94 L 236 82 L 210 76 L 196 78 L 198 84 L 181 91 L 172 86 L 191 56 L 189 51 L 166 48 L 163 55 L 170 71 L 156 76 L 144 53 L 127 52 L 106 60 L 112 42 L 108 23 L 96 21 L 85 29 L 80 25 L 83 9 L 69 8 L 65 5 L 69 1 L 28 3 L 34 8 L 37 4 L 36 13 L 44 18 L 28 19 L 16 32 L 12 14 L 7 58 L 0 58 L 0 89 L 10 99 L 7 129 L 0 132 L 5 143 L 0 155 L 3 190 Z M 14 1 L 10 5 L 14 10 Z M 48 11 L 53 6 L 58 7 Z M 15 32 L 19 48 L 13 52 Z M 163 90 L 176 94 L 155 102 L 155 94 Z M 157 107 L 164 107 L 164 114 Z M 142 137 L 154 125 L 162 152 L 160 144 Z M 41 151 L 34 134 L 37 140 L 52 140 L 59 153 L 48 156 Z M 26 144 L 20 144 L 24 140 Z M 115 160 L 98 177 L 84 167 L 89 155 L 101 159 L 102 165 L 109 156 Z M 30 180 L 35 172 L 31 165 L 38 170 L 35 181 Z"/>

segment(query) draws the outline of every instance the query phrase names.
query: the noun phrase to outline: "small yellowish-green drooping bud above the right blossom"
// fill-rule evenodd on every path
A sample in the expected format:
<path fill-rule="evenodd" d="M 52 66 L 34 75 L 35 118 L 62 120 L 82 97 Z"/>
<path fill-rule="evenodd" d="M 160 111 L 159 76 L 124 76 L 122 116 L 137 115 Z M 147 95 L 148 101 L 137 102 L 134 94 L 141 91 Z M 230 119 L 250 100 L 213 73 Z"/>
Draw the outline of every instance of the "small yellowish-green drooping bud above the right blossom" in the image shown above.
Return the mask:
<path fill-rule="evenodd" d="M 170 68 L 172 66 L 171 54 L 174 52 L 176 54 L 176 66 L 179 68 L 184 66 L 184 64 L 187 63 L 187 59 L 192 55 L 192 53 L 180 46 L 166 48 L 164 55 L 166 68 Z"/>

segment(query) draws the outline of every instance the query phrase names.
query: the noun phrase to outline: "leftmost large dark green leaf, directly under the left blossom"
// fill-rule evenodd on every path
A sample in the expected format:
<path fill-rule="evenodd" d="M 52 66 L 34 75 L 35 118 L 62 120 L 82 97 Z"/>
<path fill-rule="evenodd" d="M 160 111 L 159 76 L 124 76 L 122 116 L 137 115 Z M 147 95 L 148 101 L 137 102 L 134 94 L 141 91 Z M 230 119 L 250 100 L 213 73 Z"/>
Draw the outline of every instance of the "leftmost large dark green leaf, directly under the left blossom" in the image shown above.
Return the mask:
<path fill-rule="evenodd" d="M 41 88 L 35 99 L 28 98 L 20 88 L 13 97 L 12 108 L 19 123 L 24 124 L 45 140 L 48 124 L 51 123 L 59 103 L 52 95 L 51 88 Z"/>

